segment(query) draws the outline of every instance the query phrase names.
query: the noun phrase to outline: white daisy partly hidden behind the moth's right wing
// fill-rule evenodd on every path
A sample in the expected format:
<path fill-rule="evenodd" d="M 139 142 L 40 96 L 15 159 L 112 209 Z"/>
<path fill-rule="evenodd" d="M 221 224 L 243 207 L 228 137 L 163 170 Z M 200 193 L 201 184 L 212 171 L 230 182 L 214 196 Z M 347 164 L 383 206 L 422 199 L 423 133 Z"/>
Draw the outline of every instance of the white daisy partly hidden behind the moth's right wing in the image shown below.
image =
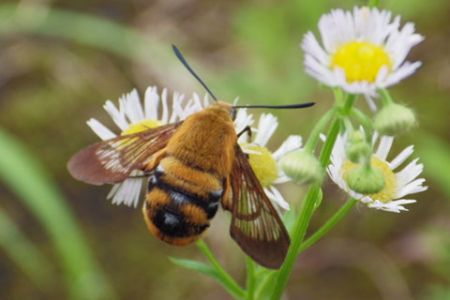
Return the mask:
<path fill-rule="evenodd" d="M 241 116 L 239 116 L 239 113 L 241 113 Z M 249 119 L 251 122 L 249 122 Z M 236 128 L 245 128 L 245 126 L 240 124 L 243 120 L 247 120 L 250 124 L 253 123 L 251 116 L 246 116 L 245 111 L 240 110 L 235 122 Z M 300 149 L 302 139 L 298 135 L 291 135 L 272 153 L 267 149 L 266 145 L 277 127 L 278 120 L 274 115 L 262 114 L 259 118 L 258 126 L 253 129 L 252 139 L 250 140 L 248 135 L 244 134 L 239 138 L 238 143 L 243 151 L 249 155 L 250 165 L 269 199 L 279 207 L 287 210 L 289 209 L 289 204 L 284 200 L 274 184 L 290 181 L 281 170 L 279 161 L 285 154 Z M 236 132 L 239 132 L 239 130 L 236 130 Z"/>

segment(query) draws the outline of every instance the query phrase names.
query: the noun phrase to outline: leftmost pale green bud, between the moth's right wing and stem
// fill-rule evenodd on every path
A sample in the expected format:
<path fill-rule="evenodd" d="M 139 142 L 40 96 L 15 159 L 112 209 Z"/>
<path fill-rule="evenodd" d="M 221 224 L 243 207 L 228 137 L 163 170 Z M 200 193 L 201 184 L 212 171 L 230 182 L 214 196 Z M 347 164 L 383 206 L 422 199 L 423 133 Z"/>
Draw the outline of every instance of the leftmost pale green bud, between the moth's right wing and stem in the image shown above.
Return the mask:
<path fill-rule="evenodd" d="M 283 172 L 297 183 L 313 183 L 322 180 L 323 168 L 311 153 L 301 149 L 286 154 L 280 161 Z"/>

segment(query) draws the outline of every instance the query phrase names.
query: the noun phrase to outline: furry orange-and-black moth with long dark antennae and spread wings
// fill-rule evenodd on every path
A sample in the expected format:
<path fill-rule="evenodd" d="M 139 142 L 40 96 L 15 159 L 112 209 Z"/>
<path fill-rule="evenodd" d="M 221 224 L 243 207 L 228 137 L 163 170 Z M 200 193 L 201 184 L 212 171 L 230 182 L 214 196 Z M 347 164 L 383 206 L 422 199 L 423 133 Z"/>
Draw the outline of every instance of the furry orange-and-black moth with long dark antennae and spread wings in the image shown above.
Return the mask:
<path fill-rule="evenodd" d="M 218 101 L 173 49 L 215 102 L 184 121 L 88 146 L 70 159 L 68 170 L 95 185 L 118 183 L 134 170 L 143 171 L 148 177 L 145 223 L 154 236 L 173 245 L 197 240 L 221 206 L 231 212 L 230 235 L 241 249 L 262 266 L 277 269 L 289 235 L 237 143 L 239 135 L 250 131 L 237 133 L 233 125 L 236 110 L 244 106 Z"/>

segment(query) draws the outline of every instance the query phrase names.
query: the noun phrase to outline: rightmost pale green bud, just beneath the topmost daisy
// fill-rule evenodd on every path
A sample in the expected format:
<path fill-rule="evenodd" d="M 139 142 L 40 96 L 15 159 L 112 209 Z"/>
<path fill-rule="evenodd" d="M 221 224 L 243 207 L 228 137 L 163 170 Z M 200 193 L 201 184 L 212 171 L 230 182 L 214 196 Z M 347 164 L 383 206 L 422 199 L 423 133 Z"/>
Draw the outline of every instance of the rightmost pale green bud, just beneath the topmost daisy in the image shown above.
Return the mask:
<path fill-rule="evenodd" d="M 390 103 L 383 107 L 374 118 L 375 129 L 387 135 L 395 135 L 416 126 L 414 111 L 404 105 Z"/>

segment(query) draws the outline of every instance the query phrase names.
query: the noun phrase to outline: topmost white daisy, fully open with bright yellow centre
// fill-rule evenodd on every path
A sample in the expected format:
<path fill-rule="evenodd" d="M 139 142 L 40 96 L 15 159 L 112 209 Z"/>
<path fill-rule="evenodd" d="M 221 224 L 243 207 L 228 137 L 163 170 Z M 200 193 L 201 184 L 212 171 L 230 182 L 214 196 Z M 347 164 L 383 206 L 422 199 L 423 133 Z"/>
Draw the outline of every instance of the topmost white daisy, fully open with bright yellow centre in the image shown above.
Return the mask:
<path fill-rule="evenodd" d="M 318 81 L 352 94 L 374 96 L 413 74 L 420 62 L 405 61 L 423 40 L 414 24 L 400 28 L 400 17 L 377 8 L 332 10 L 319 20 L 321 44 L 312 32 L 301 43 L 306 72 Z"/>

